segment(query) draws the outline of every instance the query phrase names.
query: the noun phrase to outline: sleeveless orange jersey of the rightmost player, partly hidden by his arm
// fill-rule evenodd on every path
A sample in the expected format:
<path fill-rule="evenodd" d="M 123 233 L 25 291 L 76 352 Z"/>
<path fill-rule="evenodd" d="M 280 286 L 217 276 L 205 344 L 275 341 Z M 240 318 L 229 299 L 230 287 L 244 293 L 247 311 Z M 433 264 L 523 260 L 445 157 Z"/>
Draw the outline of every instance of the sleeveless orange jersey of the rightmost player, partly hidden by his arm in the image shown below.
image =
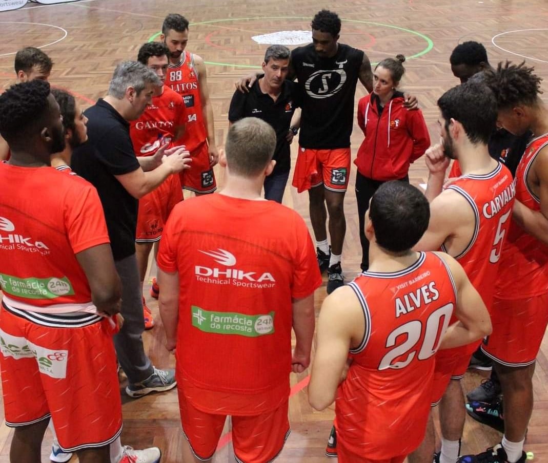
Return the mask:
<path fill-rule="evenodd" d="M 536 155 L 548 145 L 548 134 L 535 138 L 526 148 L 516 170 L 516 200 L 540 211 L 540 199 L 527 184 Z M 510 284 L 509 284 L 510 282 Z M 517 223 L 510 225 L 496 281 L 498 299 L 522 299 L 548 292 L 548 246 Z"/>

